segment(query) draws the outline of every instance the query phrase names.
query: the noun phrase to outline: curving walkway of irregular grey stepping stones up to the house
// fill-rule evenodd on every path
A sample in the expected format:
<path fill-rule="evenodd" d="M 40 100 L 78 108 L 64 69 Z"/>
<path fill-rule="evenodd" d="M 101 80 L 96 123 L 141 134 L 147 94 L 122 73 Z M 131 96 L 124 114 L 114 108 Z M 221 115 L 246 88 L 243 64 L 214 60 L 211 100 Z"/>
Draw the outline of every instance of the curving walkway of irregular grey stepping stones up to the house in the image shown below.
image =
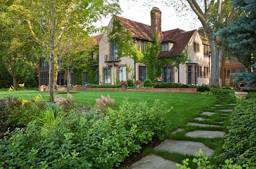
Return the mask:
<path fill-rule="evenodd" d="M 227 96 L 217 96 L 218 101 L 222 101 L 225 99 L 230 99 L 230 97 Z M 228 105 L 235 106 L 235 103 L 230 103 Z M 233 111 L 233 107 L 224 107 L 222 104 L 214 104 L 213 107 L 218 108 L 214 109 L 214 112 L 203 112 L 201 115 L 207 115 L 209 118 L 202 118 L 202 117 L 196 117 L 194 120 L 197 120 L 198 122 L 189 122 L 186 126 L 199 126 L 199 127 L 214 127 L 216 131 L 208 131 L 208 130 L 195 130 L 190 131 L 185 134 L 187 137 L 192 138 L 216 138 L 216 137 L 224 137 L 225 133 L 223 131 L 218 131 L 217 127 L 223 126 L 223 123 L 225 121 L 218 122 L 219 125 L 212 125 L 212 124 L 205 124 L 206 121 L 212 121 L 210 118 L 212 115 L 218 115 L 221 118 L 226 118 L 223 115 L 227 116 L 230 112 Z M 219 113 L 221 112 L 221 113 Z M 221 116 L 222 115 L 222 116 Z M 216 124 L 216 123 L 215 123 Z M 202 128 L 200 128 L 202 129 Z M 213 129 L 213 130 L 215 130 Z M 177 129 L 172 132 L 172 134 L 176 134 L 177 132 L 183 132 L 184 129 Z M 180 141 L 180 140 L 170 140 L 166 139 L 163 141 L 159 146 L 154 148 L 155 150 L 161 150 L 161 151 L 167 151 L 167 152 L 175 152 L 180 153 L 184 155 L 195 155 L 195 152 L 197 152 L 199 149 L 202 149 L 202 151 L 206 155 L 213 155 L 214 150 L 210 149 L 209 147 L 205 146 L 201 142 L 194 142 L 194 141 Z M 175 166 L 177 162 L 166 160 L 160 156 L 157 155 L 147 155 L 144 158 L 142 158 L 140 161 L 137 161 L 136 163 L 132 164 L 130 169 L 178 169 L 177 166 Z"/>

